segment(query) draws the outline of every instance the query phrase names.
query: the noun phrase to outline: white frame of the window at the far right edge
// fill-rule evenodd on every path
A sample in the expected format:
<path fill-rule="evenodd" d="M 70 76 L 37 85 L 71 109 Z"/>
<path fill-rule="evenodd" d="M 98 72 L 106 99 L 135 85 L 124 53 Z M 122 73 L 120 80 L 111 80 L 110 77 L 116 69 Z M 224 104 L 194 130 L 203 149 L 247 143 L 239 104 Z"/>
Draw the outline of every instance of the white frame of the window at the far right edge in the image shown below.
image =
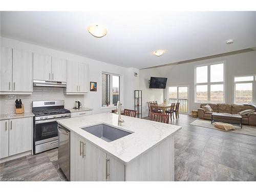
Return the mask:
<path fill-rule="evenodd" d="M 253 80 L 250 81 L 234 81 L 234 78 L 236 77 L 247 77 L 247 76 L 253 76 Z M 242 104 L 236 102 L 236 84 L 237 83 L 252 83 L 252 103 L 256 103 L 256 74 L 247 74 L 247 75 L 233 75 L 233 103 L 235 104 Z"/>

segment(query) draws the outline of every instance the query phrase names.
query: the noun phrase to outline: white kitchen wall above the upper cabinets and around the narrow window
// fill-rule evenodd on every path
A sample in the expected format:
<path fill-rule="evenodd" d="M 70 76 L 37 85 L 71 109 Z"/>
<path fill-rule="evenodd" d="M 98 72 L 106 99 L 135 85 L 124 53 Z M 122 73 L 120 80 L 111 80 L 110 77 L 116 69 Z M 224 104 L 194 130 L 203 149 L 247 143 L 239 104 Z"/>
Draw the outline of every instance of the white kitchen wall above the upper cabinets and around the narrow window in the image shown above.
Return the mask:
<path fill-rule="evenodd" d="M 139 70 L 137 70 L 135 68 L 132 68 L 132 69 L 123 68 L 123 67 L 112 65 L 110 63 L 93 60 L 93 59 L 90 59 L 87 57 L 82 57 L 79 55 L 62 52 L 62 51 L 58 51 L 58 50 L 54 50 L 54 49 L 50 49 L 50 48 L 46 48 L 46 47 L 28 44 L 26 42 L 17 41 L 17 40 L 5 38 L 5 37 L 1 37 L 1 46 L 11 47 L 11 48 L 15 48 L 15 49 L 23 49 L 23 50 L 28 50 L 28 51 L 31 51 L 34 53 L 45 54 L 45 55 L 55 56 L 55 57 L 59 57 L 59 58 L 65 58 L 65 59 L 70 59 L 70 60 L 74 60 L 74 61 L 88 63 L 89 64 L 89 82 L 90 81 L 97 82 L 97 92 L 89 91 L 88 94 L 81 97 L 81 96 L 76 96 L 76 95 L 71 95 L 71 96 L 63 95 L 62 89 L 56 89 L 56 90 L 59 90 L 59 92 L 58 92 L 58 94 L 55 94 L 56 95 L 55 99 L 64 99 L 66 108 L 67 108 L 67 106 L 73 106 L 75 100 L 82 99 L 81 102 L 82 102 L 83 106 L 93 108 L 94 114 L 111 111 L 110 108 L 108 108 L 108 109 L 101 108 L 101 73 L 102 72 L 114 73 L 114 74 L 118 74 L 121 76 L 121 78 L 120 78 L 120 92 L 121 92 L 120 100 L 123 104 L 122 106 L 123 106 L 123 108 L 126 106 L 127 106 L 127 108 L 131 108 L 133 106 L 133 102 L 131 102 L 131 101 L 133 101 L 133 97 L 134 97 L 133 92 L 134 92 L 135 88 L 136 89 L 138 88 L 138 81 L 137 81 L 137 79 L 133 78 L 133 76 L 134 76 L 133 72 L 134 71 L 139 72 Z M 130 89 L 126 90 L 125 89 L 126 87 L 129 87 Z M 45 92 L 44 95 L 48 95 L 47 91 L 45 89 L 43 89 L 43 90 Z M 59 94 L 61 94 L 61 97 L 58 96 Z M 22 98 L 22 97 L 25 97 L 25 96 L 19 96 L 19 98 Z M 49 97 L 52 98 L 52 96 L 49 96 Z M 3 98 L 3 97 L 1 97 L 1 98 Z M 45 99 L 45 98 L 47 98 L 47 96 L 45 96 L 43 98 Z M 30 102 L 30 101 L 28 101 L 28 102 Z M 32 100 L 31 100 L 31 102 L 32 102 Z M 2 107 L 4 107 L 3 99 L 1 99 L 1 104 L 2 104 Z"/>

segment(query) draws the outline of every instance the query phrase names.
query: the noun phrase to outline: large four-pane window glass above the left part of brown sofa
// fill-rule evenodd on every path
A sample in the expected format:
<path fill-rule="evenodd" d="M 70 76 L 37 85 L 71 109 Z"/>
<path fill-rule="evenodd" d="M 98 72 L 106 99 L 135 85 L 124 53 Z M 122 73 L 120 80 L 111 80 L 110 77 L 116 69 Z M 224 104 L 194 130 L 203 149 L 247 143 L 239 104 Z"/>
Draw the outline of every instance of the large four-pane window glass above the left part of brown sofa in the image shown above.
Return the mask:
<path fill-rule="evenodd" d="M 195 102 L 224 102 L 224 63 L 196 67 Z"/>

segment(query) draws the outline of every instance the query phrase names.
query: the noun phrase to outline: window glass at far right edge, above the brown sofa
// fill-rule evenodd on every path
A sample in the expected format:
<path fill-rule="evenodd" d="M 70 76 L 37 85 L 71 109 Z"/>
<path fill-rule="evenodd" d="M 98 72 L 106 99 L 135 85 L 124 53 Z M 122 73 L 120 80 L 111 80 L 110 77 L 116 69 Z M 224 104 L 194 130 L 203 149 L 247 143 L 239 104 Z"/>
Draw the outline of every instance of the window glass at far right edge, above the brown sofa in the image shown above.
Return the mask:
<path fill-rule="evenodd" d="M 256 97 L 255 78 L 253 75 L 234 77 L 234 103 L 253 102 Z"/>

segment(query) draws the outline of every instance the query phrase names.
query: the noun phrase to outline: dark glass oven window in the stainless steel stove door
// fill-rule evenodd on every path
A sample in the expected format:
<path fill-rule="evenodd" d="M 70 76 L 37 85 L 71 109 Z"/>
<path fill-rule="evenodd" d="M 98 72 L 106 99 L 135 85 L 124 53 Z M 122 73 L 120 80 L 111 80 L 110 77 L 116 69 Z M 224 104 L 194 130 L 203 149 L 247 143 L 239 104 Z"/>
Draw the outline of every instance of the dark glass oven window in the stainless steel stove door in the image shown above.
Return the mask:
<path fill-rule="evenodd" d="M 58 123 L 48 122 L 35 124 L 35 140 L 40 141 L 58 136 Z"/>

